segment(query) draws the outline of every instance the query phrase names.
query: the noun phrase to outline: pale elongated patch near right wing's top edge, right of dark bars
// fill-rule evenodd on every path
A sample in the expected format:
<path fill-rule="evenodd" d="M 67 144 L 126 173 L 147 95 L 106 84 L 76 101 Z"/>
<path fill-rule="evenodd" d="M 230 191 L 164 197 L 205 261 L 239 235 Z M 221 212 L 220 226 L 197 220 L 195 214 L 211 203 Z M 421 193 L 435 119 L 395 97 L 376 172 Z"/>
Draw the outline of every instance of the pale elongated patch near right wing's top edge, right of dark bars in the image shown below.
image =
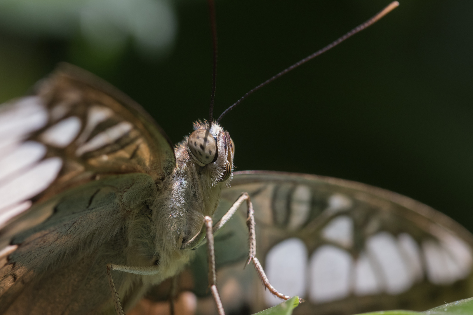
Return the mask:
<path fill-rule="evenodd" d="M 291 196 L 288 229 L 297 230 L 309 217 L 312 191 L 306 185 L 298 185 Z"/>

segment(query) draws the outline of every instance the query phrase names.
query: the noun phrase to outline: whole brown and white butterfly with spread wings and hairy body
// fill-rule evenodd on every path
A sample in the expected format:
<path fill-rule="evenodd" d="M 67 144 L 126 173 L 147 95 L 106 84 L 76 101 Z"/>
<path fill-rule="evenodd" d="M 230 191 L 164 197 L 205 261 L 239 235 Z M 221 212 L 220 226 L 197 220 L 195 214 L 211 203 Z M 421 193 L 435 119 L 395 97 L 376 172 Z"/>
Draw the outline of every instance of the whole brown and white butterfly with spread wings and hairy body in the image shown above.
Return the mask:
<path fill-rule="evenodd" d="M 243 192 L 257 257 L 277 289 L 306 299 L 297 312 L 428 308 L 420 304 L 470 295 L 473 238 L 459 224 L 359 183 L 234 172 L 228 132 L 205 121 L 194 129 L 174 147 L 140 105 L 67 64 L 34 95 L 2 105 L 0 314 L 113 314 L 111 263 L 143 267 L 113 273 L 125 310 L 191 262 L 203 296 L 205 247 L 181 248 Z M 276 303 L 242 271 L 246 216 L 243 205 L 215 236 L 229 312 Z"/>

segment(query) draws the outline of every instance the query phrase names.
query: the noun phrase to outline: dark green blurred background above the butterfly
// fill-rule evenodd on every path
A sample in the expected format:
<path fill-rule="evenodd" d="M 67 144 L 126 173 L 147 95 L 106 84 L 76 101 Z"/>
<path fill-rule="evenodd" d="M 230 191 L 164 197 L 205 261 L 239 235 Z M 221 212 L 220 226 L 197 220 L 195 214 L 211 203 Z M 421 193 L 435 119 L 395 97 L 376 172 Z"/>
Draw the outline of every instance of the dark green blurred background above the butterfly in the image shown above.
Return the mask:
<path fill-rule="evenodd" d="M 217 0 L 216 114 L 387 4 Z M 0 12 L 1 101 L 64 60 L 140 102 L 174 142 L 207 118 L 206 1 L 0 0 Z M 473 231 L 472 13 L 468 0 L 401 0 L 368 30 L 263 88 L 222 120 L 236 170 L 357 180 Z"/>

